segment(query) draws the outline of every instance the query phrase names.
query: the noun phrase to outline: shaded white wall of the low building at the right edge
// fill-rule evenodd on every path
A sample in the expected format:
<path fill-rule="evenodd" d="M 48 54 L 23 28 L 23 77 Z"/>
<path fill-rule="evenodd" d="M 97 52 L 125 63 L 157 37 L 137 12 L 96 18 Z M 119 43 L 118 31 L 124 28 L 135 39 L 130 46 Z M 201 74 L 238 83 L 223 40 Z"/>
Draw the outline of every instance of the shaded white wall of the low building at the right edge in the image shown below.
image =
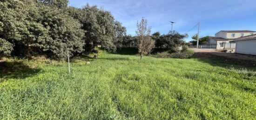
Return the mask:
<path fill-rule="evenodd" d="M 236 53 L 256 55 L 256 39 L 236 41 Z"/>

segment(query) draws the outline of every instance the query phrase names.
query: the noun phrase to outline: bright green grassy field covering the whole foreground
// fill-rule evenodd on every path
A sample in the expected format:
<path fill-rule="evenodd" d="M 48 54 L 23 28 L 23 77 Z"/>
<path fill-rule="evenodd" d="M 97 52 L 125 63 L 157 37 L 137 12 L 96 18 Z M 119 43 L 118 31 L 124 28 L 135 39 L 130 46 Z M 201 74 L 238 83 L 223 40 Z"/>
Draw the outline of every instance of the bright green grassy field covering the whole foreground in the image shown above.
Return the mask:
<path fill-rule="evenodd" d="M 76 57 L 70 75 L 66 62 L 5 62 L 0 73 L 0 119 L 256 117 L 253 68 L 229 69 L 202 59 L 140 61 L 124 54 L 101 51 L 96 60 Z"/>

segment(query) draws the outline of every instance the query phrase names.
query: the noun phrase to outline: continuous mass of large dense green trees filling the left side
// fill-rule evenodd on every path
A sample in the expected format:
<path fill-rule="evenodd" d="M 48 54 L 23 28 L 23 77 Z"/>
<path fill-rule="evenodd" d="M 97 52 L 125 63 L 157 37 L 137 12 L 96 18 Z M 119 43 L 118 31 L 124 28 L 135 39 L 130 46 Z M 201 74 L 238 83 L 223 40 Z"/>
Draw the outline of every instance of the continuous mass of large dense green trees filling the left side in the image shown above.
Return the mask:
<path fill-rule="evenodd" d="M 126 28 L 97 6 L 68 7 L 68 0 L 1 0 L 0 38 L 14 44 L 15 56 L 44 54 L 65 59 L 121 47 Z"/>

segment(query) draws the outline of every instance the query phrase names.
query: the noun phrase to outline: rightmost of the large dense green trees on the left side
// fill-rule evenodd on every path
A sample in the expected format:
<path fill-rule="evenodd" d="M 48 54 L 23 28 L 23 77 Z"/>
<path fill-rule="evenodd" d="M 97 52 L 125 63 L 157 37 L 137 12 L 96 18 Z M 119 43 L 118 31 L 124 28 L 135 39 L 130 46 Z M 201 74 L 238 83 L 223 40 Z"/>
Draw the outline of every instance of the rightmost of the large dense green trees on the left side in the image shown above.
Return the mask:
<path fill-rule="evenodd" d="M 116 46 L 121 47 L 126 28 L 115 21 L 110 12 L 87 4 L 82 9 L 71 7 L 69 13 L 82 24 L 81 28 L 85 31 L 86 52 L 94 51 L 98 45 L 108 51 L 116 51 Z"/>

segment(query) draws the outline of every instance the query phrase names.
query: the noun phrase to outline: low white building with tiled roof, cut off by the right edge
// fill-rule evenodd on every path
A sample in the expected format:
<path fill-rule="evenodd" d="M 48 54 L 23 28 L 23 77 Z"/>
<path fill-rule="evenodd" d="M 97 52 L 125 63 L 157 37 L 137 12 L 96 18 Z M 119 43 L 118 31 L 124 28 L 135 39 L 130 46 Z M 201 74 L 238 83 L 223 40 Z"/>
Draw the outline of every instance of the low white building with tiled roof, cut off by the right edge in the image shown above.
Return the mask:
<path fill-rule="evenodd" d="M 256 55 L 256 34 L 235 39 L 236 53 Z"/>

